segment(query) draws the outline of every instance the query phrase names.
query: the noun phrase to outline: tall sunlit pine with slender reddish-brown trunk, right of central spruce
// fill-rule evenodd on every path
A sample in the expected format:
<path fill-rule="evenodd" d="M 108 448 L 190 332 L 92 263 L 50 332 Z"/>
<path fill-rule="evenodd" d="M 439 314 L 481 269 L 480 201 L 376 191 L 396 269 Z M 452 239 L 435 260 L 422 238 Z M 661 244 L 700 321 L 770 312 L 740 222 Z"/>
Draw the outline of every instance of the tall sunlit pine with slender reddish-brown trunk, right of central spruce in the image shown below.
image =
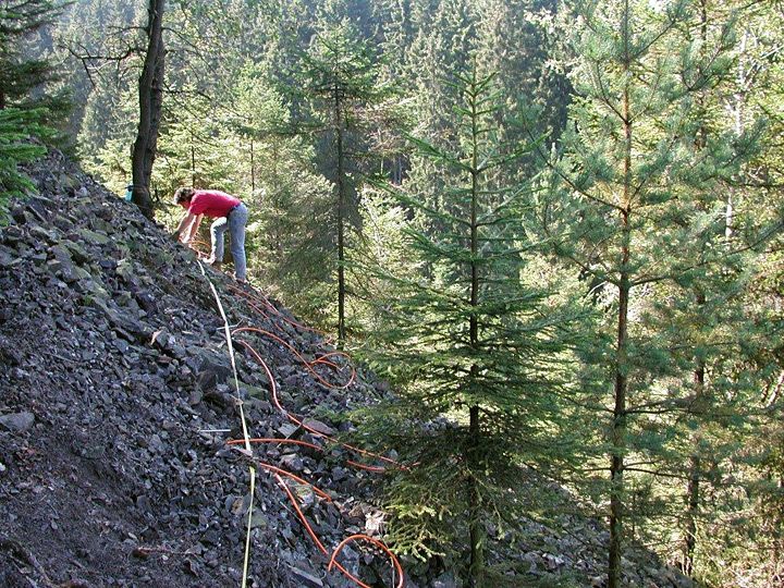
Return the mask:
<path fill-rule="evenodd" d="M 698 22 L 691 2 L 572 8 L 579 23 L 572 41 L 579 97 L 564 152 L 552 160 L 554 199 L 540 211 L 548 234 L 558 238 L 556 255 L 590 280 L 607 309 L 605 330 L 595 335 L 607 347 L 596 345 L 587 356 L 601 367 L 593 373 L 596 395 L 586 404 L 608 406 L 611 414 L 597 456 L 607 452 L 609 461 L 608 585 L 616 588 L 626 523 L 635 511 L 665 514 L 671 494 L 658 485 L 688 478 L 683 465 L 690 450 L 679 444 L 679 419 L 695 402 L 698 419 L 711 418 L 703 387 L 691 382 L 700 357 L 716 343 L 703 339 L 708 331 L 703 324 L 711 313 L 715 318 L 713 303 L 722 296 L 706 306 L 699 292 L 718 293 L 716 278 L 743 267 L 740 253 L 764 238 L 752 217 L 738 215 L 738 235 L 746 241 L 727 246 L 721 199 L 722 182 L 752 155 L 758 128 L 739 135 L 705 128 L 696 113 L 698 97 L 726 75 L 732 20 L 702 53 L 689 38 Z M 678 289 L 688 291 L 682 299 L 695 322 L 648 320 L 658 299 L 673 305 Z M 694 328 L 695 336 L 679 328 Z"/>

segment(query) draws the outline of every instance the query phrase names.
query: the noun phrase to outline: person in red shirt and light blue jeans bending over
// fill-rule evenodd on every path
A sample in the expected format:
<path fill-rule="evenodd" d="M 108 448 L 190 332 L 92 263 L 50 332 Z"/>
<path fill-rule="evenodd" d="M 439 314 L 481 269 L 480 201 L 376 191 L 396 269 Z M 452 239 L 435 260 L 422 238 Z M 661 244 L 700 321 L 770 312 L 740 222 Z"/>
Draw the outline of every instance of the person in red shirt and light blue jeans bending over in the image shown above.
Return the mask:
<path fill-rule="evenodd" d="M 193 240 L 205 215 L 216 219 L 210 226 L 212 250 L 206 260 L 220 269 L 223 261 L 223 233 L 229 230 L 234 272 L 237 281 L 245 281 L 245 224 L 247 207 L 238 198 L 218 189 L 181 187 L 174 192 L 174 204 L 185 209 L 172 237 L 185 243 Z"/>

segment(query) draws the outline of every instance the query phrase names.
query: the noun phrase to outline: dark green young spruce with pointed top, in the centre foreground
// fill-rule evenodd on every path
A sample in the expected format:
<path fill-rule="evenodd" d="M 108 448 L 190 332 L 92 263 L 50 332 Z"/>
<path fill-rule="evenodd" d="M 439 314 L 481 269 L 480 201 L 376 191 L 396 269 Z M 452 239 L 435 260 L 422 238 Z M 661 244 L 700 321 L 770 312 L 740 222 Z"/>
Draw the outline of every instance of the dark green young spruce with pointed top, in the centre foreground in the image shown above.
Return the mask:
<path fill-rule="evenodd" d="M 399 395 L 376 407 L 368 437 L 383 434 L 411 469 L 391 475 L 391 540 L 421 558 L 465 558 L 470 586 L 488 584 L 489 529 L 530 514 L 528 466 L 561 457 L 568 321 L 552 293 L 527 280 L 522 219 L 527 193 L 493 183 L 493 171 L 525 154 L 497 140 L 494 76 L 458 76 L 457 148 L 411 137 L 424 161 L 450 179 L 429 203 L 390 188 L 409 212 L 411 267 L 384 278 L 394 299 L 373 341 L 372 366 Z M 438 231 L 433 231 L 433 228 Z"/>

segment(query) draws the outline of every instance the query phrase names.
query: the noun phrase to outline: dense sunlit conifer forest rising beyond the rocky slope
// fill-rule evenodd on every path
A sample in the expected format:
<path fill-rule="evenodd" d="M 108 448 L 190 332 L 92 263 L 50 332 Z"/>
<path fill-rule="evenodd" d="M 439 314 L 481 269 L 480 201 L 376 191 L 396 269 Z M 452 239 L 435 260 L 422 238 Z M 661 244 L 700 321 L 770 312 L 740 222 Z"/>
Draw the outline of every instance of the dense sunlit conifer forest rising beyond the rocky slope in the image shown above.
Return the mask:
<path fill-rule="evenodd" d="M 246 203 L 250 281 L 395 391 L 399 553 L 500 586 L 567 491 L 610 588 L 632 543 L 781 585 L 782 39 L 777 0 L 2 0 L 0 206 L 45 145 L 169 228 Z"/>

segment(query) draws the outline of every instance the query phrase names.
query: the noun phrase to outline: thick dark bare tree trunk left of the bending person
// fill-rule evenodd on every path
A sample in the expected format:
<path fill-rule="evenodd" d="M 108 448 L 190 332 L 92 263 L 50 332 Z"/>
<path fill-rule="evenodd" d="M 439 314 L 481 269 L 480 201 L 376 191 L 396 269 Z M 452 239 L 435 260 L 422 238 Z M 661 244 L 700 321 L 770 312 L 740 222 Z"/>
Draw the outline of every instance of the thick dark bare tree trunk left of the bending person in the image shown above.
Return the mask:
<path fill-rule="evenodd" d="M 163 10 L 166 0 L 149 0 L 147 54 L 139 77 L 139 125 L 133 148 L 133 197 L 145 217 L 152 219 L 150 177 L 158 144 L 163 102 Z"/>

